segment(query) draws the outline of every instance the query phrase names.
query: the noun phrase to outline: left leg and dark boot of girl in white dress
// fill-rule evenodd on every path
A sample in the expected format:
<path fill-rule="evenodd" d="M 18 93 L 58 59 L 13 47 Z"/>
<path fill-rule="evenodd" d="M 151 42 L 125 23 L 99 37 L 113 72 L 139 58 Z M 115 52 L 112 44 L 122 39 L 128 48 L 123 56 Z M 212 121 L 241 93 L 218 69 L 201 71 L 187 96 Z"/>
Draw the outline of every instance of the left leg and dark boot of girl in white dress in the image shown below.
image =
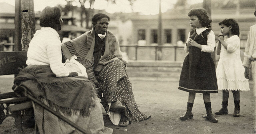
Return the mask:
<path fill-rule="evenodd" d="M 223 90 L 222 91 L 222 108 L 215 112 L 217 115 L 222 115 L 222 114 L 228 114 L 228 98 L 229 98 L 229 91 Z"/>

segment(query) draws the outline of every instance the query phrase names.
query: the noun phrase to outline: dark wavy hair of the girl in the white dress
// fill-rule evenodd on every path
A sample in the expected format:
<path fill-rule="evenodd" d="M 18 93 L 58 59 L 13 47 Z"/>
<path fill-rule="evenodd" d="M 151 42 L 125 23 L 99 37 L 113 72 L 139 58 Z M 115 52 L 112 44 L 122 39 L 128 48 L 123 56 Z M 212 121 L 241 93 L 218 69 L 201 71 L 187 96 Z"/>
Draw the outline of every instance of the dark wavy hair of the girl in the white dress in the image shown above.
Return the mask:
<path fill-rule="evenodd" d="M 219 25 L 221 25 L 221 24 L 223 24 L 223 25 L 225 25 L 227 27 L 231 26 L 232 27 L 231 28 L 231 33 L 233 35 L 237 35 L 239 37 L 239 34 L 240 34 L 240 32 L 239 32 L 239 25 L 236 22 L 236 20 L 234 20 L 234 19 L 225 19 L 225 20 L 223 20 L 223 21 L 221 21 L 219 23 Z"/>

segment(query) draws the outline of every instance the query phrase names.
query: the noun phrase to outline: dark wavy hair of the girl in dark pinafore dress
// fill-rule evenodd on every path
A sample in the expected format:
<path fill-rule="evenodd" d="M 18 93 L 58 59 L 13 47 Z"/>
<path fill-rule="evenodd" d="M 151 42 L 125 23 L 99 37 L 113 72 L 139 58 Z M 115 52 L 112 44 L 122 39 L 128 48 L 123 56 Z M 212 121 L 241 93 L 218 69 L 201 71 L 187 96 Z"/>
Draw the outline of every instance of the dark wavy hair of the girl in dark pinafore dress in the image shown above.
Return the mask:
<path fill-rule="evenodd" d="M 209 14 L 207 11 L 203 8 L 198 8 L 198 9 L 191 9 L 188 12 L 188 16 L 197 16 L 199 22 L 201 23 L 202 27 L 207 27 L 211 28 L 211 22 L 212 20 L 209 17 Z"/>

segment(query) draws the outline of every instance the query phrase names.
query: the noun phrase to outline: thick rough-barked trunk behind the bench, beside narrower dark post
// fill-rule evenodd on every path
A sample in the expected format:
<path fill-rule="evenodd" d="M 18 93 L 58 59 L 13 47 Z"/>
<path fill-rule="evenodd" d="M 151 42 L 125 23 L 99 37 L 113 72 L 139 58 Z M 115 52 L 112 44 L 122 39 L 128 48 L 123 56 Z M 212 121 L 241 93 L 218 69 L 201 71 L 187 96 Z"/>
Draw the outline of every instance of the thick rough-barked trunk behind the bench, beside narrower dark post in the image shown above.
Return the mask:
<path fill-rule="evenodd" d="M 27 51 L 36 30 L 33 0 L 21 0 L 21 19 L 21 46 Z"/>

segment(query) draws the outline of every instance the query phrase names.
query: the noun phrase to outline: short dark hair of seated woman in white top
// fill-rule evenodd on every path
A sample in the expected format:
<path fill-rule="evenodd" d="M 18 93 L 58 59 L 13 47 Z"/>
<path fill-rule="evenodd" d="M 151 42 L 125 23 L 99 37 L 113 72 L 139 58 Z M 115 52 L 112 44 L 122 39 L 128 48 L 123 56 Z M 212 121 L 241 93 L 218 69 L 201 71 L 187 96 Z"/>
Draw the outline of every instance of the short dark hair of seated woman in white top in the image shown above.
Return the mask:
<path fill-rule="evenodd" d="M 59 7 L 45 7 L 40 14 L 40 26 L 54 28 L 60 24 L 61 9 Z"/>

